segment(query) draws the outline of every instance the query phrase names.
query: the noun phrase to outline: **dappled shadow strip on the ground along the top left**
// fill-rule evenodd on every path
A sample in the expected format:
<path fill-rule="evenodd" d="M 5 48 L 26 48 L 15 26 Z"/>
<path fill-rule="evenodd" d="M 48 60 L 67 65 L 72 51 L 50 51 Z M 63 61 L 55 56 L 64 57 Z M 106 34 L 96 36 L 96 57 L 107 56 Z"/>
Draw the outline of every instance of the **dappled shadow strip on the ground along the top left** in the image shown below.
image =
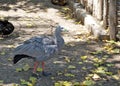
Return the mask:
<path fill-rule="evenodd" d="M 59 9 L 59 6 L 55 6 L 51 3 L 50 0 L 1 0 L 0 9 L 3 11 L 21 9 L 27 12 L 38 12 L 39 10 L 46 11 L 48 8 Z"/>

